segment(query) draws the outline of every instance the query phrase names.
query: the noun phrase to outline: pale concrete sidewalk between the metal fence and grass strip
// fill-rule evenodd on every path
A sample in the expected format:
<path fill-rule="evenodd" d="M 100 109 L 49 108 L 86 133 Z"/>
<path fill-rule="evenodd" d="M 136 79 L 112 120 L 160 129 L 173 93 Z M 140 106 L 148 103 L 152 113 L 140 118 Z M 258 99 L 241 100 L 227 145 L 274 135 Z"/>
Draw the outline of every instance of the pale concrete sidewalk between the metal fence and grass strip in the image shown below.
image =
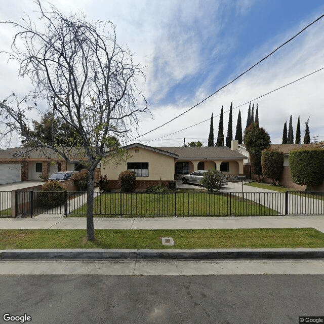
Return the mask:
<path fill-rule="evenodd" d="M 301 228 L 324 233 L 324 215 L 241 217 L 94 217 L 95 229 Z M 0 229 L 86 229 L 85 217 L 0 218 Z"/>

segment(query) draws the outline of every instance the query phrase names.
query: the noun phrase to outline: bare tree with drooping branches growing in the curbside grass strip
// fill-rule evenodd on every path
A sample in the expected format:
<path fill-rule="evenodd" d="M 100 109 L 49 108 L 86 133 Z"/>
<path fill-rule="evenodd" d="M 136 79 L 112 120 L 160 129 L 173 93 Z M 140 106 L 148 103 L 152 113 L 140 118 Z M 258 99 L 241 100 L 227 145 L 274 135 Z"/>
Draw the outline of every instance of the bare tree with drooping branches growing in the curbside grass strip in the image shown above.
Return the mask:
<path fill-rule="evenodd" d="M 80 14 L 66 18 L 52 5 L 46 11 L 40 0 L 35 3 L 45 29 L 39 30 L 29 17 L 21 24 L 4 22 L 19 30 L 10 55 L 20 63 L 19 75 L 30 77 L 35 86 L 34 98 L 46 99 L 53 115 L 63 119 L 82 140 L 89 168 L 87 238 L 92 240 L 94 170 L 103 163 L 107 147 L 114 149 L 110 158 L 118 161 L 125 152 L 112 138 L 126 136 L 131 126 L 137 128 L 137 113 L 148 109 L 136 86 L 137 78 L 144 74 L 133 63 L 129 49 L 117 45 L 111 22 L 89 23 Z M 18 130 L 36 147 L 51 148 L 71 160 L 70 148 L 48 145 L 32 136 L 21 103 L 13 108 L 0 102 L 0 109 L 5 124 L 3 134 Z"/>

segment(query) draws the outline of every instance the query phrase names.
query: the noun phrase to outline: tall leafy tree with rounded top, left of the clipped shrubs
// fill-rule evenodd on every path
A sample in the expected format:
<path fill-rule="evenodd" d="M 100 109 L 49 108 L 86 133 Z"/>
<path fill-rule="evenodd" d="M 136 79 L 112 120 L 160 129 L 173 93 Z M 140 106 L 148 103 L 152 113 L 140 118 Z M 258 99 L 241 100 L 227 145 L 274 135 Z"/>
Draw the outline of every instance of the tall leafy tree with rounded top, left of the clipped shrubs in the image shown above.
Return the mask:
<path fill-rule="evenodd" d="M 261 152 L 270 146 L 270 135 L 263 127 L 258 127 L 256 124 L 251 124 L 245 131 L 244 143 L 250 153 L 252 172 L 259 176 L 259 181 L 262 176 Z"/>

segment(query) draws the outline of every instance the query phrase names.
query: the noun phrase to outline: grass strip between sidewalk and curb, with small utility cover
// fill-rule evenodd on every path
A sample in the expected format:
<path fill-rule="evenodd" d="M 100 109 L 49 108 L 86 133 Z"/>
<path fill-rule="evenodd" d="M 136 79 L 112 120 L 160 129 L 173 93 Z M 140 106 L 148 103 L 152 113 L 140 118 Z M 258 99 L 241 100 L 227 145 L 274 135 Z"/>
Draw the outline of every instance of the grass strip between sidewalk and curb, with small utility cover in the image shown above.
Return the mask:
<path fill-rule="evenodd" d="M 0 230 L 0 249 L 209 249 L 209 248 L 324 248 L 324 234 L 313 228 L 95 230 Z M 161 237 L 173 237 L 163 246 Z"/>

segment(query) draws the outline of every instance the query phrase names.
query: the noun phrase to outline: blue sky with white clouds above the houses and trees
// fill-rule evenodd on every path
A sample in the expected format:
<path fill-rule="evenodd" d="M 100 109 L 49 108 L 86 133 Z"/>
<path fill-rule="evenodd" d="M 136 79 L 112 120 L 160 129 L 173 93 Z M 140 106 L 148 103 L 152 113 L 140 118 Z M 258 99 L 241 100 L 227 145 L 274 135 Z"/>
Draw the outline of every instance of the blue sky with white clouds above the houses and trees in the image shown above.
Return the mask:
<path fill-rule="evenodd" d="M 53 0 L 52 3 L 65 14 L 79 10 L 89 20 L 110 20 L 116 25 L 117 42 L 129 47 L 134 61 L 143 66 L 146 74 L 146 82 L 139 87 L 153 119 L 150 114 L 139 116 L 142 121 L 139 134 L 164 124 L 212 94 L 324 13 L 323 2 L 317 0 Z M 23 12 L 36 18 L 32 0 L 10 4 L 0 2 L 0 20 L 18 21 Z M 8 50 L 14 31 L 4 25 L 0 28 L 0 46 Z M 214 113 L 216 135 L 222 106 L 226 136 L 226 111 L 231 101 L 236 107 L 324 67 L 323 31 L 324 18 L 217 95 L 135 141 L 152 146 L 180 146 L 186 138 L 188 142 L 200 140 L 207 145 L 209 121 L 168 134 Z M 1 98 L 12 91 L 25 94 L 30 89 L 29 80 L 17 80 L 17 66 L 7 63 L 3 56 L 0 58 Z M 272 143 L 281 143 L 284 123 L 291 114 L 294 132 L 300 115 L 303 137 L 304 122 L 310 116 L 311 137 L 324 141 L 323 79 L 324 70 L 254 102 L 259 105 L 260 124 L 269 132 Z M 242 125 L 246 123 L 248 106 L 239 108 Z M 234 109 L 233 133 L 237 113 L 238 109 Z M 133 131 L 129 143 L 137 136 Z M 11 146 L 17 143 L 18 139 L 13 139 Z"/>

